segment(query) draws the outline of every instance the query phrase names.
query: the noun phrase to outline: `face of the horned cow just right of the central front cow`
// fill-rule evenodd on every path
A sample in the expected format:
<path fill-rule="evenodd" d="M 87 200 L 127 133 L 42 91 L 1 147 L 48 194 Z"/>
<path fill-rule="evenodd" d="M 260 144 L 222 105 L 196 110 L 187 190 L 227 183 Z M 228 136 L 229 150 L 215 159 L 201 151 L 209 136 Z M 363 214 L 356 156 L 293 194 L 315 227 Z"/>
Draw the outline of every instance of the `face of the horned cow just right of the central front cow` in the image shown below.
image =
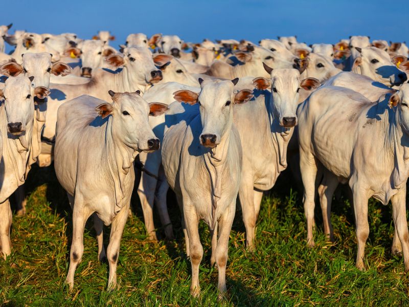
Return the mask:
<path fill-rule="evenodd" d="M 320 82 L 314 78 L 306 78 L 301 81 L 300 72 L 296 69 L 275 69 L 265 65 L 270 79 L 262 77 L 253 80 L 255 87 L 265 90 L 271 86 L 271 109 L 274 117 L 279 119 L 280 126 L 293 127 L 297 125 L 297 105 L 300 87 L 305 90 L 313 90 L 320 86 Z"/>

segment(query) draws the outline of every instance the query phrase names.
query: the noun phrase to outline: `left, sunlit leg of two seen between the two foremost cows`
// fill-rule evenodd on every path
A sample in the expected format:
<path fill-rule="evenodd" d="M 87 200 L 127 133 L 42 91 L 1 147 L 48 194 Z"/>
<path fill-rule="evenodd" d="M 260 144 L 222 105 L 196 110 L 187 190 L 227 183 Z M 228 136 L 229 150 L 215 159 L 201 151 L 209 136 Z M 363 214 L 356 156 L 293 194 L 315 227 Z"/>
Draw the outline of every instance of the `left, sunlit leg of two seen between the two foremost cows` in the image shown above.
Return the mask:
<path fill-rule="evenodd" d="M 157 180 L 142 172 L 138 187 L 138 195 L 141 200 L 144 221 L 149 239 L 156 241 L 155 225 L 153 224 L 153 201 L 155 198 Z"/>

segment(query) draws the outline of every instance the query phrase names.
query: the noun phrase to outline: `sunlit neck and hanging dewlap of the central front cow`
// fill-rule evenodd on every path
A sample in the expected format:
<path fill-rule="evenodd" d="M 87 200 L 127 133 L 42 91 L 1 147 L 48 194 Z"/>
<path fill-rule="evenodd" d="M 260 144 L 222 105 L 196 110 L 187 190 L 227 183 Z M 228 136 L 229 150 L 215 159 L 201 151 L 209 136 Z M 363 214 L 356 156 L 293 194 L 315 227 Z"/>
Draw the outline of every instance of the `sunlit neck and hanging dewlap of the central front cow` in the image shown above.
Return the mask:
<path fill-rule="evenodd" d="M 205 167 L 210 175 L 212 186 L 212 225 L 211 229 L 216 227 L 216 209 L 217 203 L 221 198 L 221 177 L 224 170 L 225 162 L 229 155 L 230 135 L 233 129 L 233 112 L 229 117 L 224 133 L 220 137 L 220 143 L 210 149 L 205 155 Z"/>

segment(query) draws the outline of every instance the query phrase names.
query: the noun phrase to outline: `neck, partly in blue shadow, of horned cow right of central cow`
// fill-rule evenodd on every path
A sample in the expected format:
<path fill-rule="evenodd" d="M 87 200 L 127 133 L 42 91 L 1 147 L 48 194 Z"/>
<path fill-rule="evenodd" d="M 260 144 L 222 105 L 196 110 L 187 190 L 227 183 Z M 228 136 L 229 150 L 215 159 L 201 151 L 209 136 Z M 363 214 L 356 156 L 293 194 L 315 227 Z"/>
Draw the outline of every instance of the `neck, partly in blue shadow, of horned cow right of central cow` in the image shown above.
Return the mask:
<path fill-rule="evenodd" d="M 279 118 L 275 117 L 274 114 L 274 101 L 272 99 L 272 94 L 270 94 L 270 99 L 266 99 L 266 110 L 269 125 L 266 127 L 266 135 L 270 135 L 269 138 L 270 148 L 276 152 L 276 179 L 280 172 L 287 168 L 287 147 L 288 142 L 291 139 L 294 128 L 285 128 L 280 126 Z"/>

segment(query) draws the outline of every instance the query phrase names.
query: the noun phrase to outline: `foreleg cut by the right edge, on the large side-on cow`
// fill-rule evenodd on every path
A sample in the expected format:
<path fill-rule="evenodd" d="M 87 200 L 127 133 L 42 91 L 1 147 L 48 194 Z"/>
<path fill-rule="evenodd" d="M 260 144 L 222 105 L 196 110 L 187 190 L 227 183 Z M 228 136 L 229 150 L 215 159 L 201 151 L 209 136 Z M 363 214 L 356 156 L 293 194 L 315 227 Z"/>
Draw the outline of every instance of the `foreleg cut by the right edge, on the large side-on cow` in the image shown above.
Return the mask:
<path fill-rule="evenodd" d="M 403 261 L 405 271 L 409 271 L 409 232 L 407 230 L 406 221 L 406 186 L 399 190 L 398 193 L 392 196 L 392 211 L 395 229 L 398 232 L 399 240 L 403 252 Z"/>

